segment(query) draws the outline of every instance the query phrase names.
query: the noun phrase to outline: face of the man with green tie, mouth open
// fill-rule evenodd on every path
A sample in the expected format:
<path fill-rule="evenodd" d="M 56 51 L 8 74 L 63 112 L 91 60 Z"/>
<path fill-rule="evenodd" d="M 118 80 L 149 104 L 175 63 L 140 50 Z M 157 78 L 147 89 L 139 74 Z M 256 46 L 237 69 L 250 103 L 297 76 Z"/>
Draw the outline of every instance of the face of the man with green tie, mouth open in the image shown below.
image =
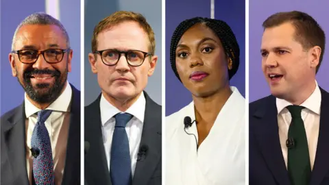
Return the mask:
<path fill-rule="evenodd" d="M 295 28 L 291 23 L 265 29 L 260 53 L 272 95 L 290 99 L 315 82 L 321 49 L 303 49 L 295 40 Z"/>

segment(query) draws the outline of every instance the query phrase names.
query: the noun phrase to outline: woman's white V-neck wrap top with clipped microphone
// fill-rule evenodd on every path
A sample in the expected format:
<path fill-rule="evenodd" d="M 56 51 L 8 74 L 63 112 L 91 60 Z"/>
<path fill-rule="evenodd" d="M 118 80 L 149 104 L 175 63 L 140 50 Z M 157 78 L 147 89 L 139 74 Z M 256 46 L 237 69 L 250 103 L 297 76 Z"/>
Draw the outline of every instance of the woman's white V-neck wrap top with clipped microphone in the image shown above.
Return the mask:
<path fill-rule="evenodd" d="M 195 120 L 193 101 L 166 118 L 166 184 L 245 184 L 245 99 L 235 87 L 208 136 L 197 149 L 184 132 L 184 117 Z M 186 130 L 197 135 L 195 123 Z"/>

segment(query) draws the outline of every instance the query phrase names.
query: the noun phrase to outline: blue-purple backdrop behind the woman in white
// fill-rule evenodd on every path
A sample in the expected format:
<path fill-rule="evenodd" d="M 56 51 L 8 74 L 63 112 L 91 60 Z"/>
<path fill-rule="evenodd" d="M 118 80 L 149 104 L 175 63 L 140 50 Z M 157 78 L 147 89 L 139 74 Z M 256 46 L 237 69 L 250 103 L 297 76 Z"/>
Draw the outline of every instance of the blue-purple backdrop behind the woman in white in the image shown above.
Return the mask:
<path fill-rule="evenodd" d="M 195 16 L 210 18 L 210 0 L 166 0 L 166 116 L 177 112 L 192 101 L 191 93 L 178 80 L 170 65 L 170 41 L 178 24 Z M 240 47 L 240 65 L 236 75 L 230 80 L 245 96 L 245 1 L 215 1 L 215 18 L 226 21 L 232 28 Z"/>

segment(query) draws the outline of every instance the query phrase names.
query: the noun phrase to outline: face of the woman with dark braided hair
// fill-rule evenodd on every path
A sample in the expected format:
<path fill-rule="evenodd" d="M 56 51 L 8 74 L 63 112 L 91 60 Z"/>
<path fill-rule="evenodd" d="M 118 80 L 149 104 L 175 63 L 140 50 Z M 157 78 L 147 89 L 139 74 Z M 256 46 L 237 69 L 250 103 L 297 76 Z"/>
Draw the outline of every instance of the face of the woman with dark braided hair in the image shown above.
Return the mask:
<path fill-rule="evenodd" d="M 184 86 L 197 97 L 207 97 L 228 87 L 228 69 L 232 61 L 226 57 L 221 40 L 205 25 L 197 24 L 180 38 L 176 68 Z"/>

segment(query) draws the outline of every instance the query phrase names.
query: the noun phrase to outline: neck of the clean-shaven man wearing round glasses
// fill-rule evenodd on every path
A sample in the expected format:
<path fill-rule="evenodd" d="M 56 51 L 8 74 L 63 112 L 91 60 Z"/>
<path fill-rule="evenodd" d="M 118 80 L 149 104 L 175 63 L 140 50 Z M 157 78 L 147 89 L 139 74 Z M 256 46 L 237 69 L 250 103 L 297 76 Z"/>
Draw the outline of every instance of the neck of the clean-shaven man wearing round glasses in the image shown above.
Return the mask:
<path fill-rule="evenodd" d="M 139 93 L 138 95 L 134 96 L 134 97 L 129 97 L 129 98 L 125 98 L 125 99 L 118 99 L 115 97 L 112 97 L 108 94 L 106 94 L 103 90 L 102 90 L 102 94 L 105 97 L 105 99 L 112 104 L 112 106 L 114 106 L 115 108 L 119 109 L 121 112 L 125 112 L 128 108 L 130 108 L 132 106 L 132 104 L 134 104 L 138 97 L 141 96 L 142 93 Z"/>

